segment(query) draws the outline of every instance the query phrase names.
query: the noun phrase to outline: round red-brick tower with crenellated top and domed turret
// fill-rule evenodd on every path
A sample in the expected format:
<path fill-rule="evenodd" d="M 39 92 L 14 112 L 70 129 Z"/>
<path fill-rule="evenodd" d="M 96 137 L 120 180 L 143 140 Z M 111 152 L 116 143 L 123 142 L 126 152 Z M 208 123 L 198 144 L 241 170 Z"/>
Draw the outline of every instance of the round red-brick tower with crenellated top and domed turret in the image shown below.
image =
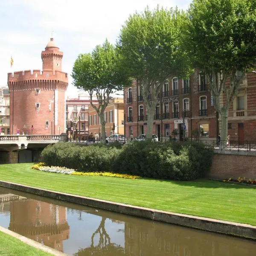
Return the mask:
<path fill-rule="evenodd" d="M 65 132 L 67 73 L 61 71 L 63 52 L 49 41 L 41 53 L 43 71 L 8 73 L 10 134 L 50 135 Z"/>

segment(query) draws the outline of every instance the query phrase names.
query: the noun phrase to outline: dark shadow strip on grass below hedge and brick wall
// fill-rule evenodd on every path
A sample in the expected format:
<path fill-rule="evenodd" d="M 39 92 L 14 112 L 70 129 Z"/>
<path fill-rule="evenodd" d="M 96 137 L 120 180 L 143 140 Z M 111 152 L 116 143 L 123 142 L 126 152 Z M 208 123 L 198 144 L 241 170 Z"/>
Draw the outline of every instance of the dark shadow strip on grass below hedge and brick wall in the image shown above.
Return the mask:
<path fill-rule="evenodd" d="M 209 180 L 207 178 L 190 180 L 190 181 L 180 181 L 180 180 L 157 180 L 153 178 L 140 178 L 140 180 L 154 180 L 154 182 L 165 182 L 173 183 L 178 186 L 189 186 L 189 187 L 198 187 L 198 188 L 209 188 L 209 189 L 256 189 L 255 185 L 244 184 L 244 183 L 228 183 L 222 180 Z M 256 191 L 256 190 L 255 190 Z"/>

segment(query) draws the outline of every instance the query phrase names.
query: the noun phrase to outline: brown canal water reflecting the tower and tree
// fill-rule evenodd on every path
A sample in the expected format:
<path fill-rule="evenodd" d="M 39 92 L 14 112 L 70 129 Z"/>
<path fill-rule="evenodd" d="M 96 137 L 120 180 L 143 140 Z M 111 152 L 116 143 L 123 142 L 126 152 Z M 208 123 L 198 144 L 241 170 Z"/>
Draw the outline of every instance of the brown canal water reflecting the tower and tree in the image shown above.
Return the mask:
<path fill-rule="evenodd" d="M 256 256 L 256 241 L 2 187 L 0 226 L 74 256 Z"/>

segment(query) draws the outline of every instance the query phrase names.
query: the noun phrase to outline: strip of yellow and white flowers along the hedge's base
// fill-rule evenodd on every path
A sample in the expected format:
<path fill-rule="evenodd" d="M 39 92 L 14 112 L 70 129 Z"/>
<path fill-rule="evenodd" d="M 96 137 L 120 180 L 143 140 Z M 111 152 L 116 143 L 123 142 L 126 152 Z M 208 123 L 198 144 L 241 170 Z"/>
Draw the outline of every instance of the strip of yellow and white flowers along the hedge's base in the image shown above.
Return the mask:
<path fill-rule="evenodd" d="M 40 170 L 43 172 L 54 172 L 54 173 L 61 173 L 67 175 L 84 175 L 84 176 L 107 176 L 107 177 L 118 177 L 118 178 L 125 178 L 125 179 L 138 179 L 140 176 L 136 175 L 127 175 L 127 174 L 118 174 L 118 173 L 111 173 L 111 172 L 76 172 L 75 169 L 68 169 L 66 167 L 59 167 L 59 166 L 45 166 L 44 163 L 37 163 L 34 164 L 31 169 Z"/>

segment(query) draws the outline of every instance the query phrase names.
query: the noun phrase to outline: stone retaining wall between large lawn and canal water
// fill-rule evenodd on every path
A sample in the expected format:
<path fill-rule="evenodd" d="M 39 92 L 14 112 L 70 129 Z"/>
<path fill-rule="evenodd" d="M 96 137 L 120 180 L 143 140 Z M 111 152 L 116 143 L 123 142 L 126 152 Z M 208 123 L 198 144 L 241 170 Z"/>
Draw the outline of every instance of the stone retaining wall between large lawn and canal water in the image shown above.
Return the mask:
<path fill-rule="evenodd" d="M 193 227 L 200 230 L 207 230 L 211 232 L 224 233 L 227 235 L 256 239 L 256 226 L 251 226 L 247 224 L 239 224 L 229 221 L 218 221 L 211 218 L 201 218 L 191 215 L 165 212 L 144 207 L 135 207 L 132 205 L 119 204 L 110 201 L 87 198 L 77 195 L 70 195 L 46 189 L 38 189 L 35 187 L 24 186 L 17 183 L 8 183 L 1 180 L 0 186 L 36 195 L 41 195 L 57 200 L 67 201 L 70 203 L 82 204 L 90 207 L 109 210 L 112 212 L 119 212 L 122 214 L 148 218 L 154 221 L 163 221 L 170 224 L 177 224 L 185 227 Z"/>

